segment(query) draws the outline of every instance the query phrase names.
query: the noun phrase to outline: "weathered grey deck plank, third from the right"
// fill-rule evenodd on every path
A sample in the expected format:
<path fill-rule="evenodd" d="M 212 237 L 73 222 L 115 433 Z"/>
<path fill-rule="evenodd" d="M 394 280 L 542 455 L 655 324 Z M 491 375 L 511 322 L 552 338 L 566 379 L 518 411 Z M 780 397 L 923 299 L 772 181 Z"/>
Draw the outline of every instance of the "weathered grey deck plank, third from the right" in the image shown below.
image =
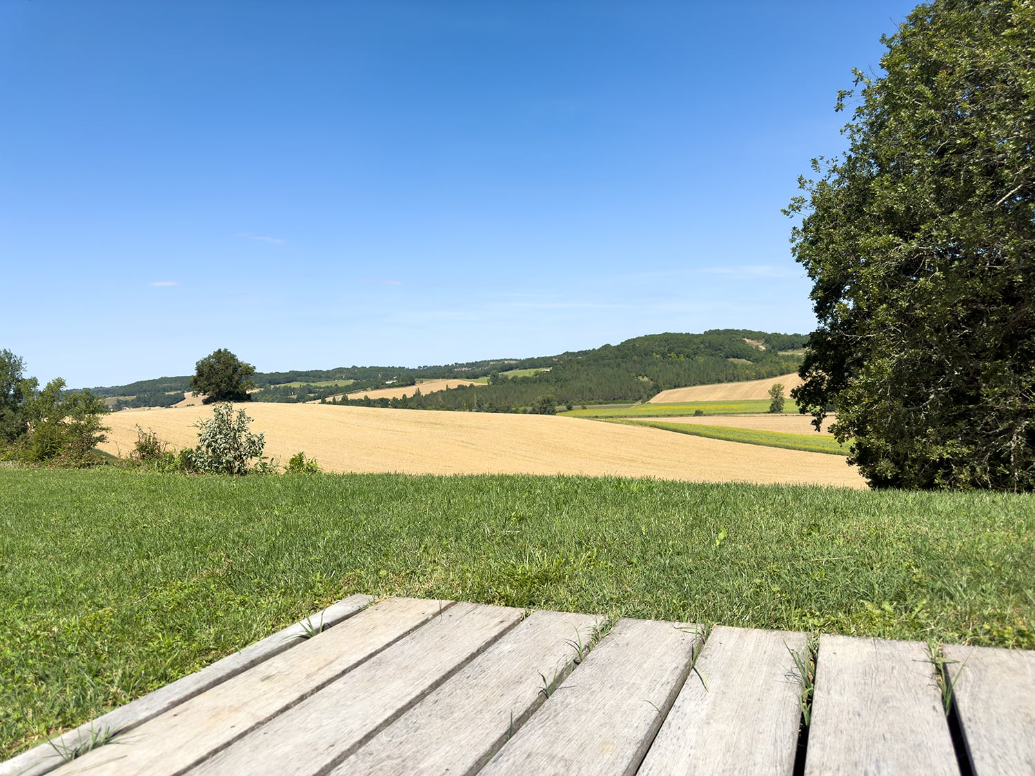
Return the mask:
<path fill-rule="evenodd" d="M 639 773 L 794 772 L 804 633 L 717 626 Z"/>

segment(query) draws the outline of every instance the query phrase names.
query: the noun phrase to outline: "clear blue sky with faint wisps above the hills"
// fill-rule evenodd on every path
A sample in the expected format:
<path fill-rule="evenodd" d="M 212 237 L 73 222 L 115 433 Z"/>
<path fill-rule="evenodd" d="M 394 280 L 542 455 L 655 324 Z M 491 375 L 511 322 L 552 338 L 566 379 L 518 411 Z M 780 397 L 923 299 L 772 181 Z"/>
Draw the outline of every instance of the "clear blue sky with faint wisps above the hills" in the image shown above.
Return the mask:
<path fill-rule="evenodd" d="M 780 214 L 914 2 L 0 0 L 41 381 L 814 328 Z"/>

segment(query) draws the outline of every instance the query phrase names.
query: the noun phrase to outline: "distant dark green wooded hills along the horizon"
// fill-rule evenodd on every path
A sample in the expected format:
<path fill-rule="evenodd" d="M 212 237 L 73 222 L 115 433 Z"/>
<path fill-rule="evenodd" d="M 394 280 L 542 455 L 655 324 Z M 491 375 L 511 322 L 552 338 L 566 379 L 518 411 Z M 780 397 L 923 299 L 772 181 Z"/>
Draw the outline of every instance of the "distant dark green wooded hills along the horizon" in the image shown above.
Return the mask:
<path fill-rule="evenodd" d="M 746 340 L 761 342 L 762 349 Z M 503 358 L 437 366 L 339 366 L 333 369 L 254 372 L 248 377 L 259 390 L 253 401 L 319 401 L 386 387 L 416 386 L 418 381 L 490 379 L 490 386 L 459 387 L 448 392 L 396 399 L 338 399 L 338 402 L 479 412 L 525 412 L 541 407 L 553 396 L 560 405 L 646 400 L 668 388 L 770 378 L 794 371 L 800 357 L 780 355 L 801 351 L 802 334 L 779 334 L 747 329 L 715 329 L 703 334 L 651 334 L 586 351 L 555 356 Z M 228 352 L 229 353 L 229 352 Z M 219 351 L 199 364 L 219 355 Z M 233 354 L 229 354 L 233 356 Z M 236 359 L 236 357 L 234 357 Z M 243 366 L 248 366 L 243 364 Z M 534 376 L 508 377 L 507 372 L 539 369 Z M 216 369 L 218 371 L 218 369 Z M 195 376 L 197 378 L 197 376 Z M 109 398 L 112 409 L 171 407 L 191 390 L 190 376 L 144 380 L 118 387 L 94 388 Z M 317 385 L 339 381 L 339 385 Z M 348 385 L 348 381 L 352 381 Z M 299 384 L 299 385 L 295 385 Z"/>

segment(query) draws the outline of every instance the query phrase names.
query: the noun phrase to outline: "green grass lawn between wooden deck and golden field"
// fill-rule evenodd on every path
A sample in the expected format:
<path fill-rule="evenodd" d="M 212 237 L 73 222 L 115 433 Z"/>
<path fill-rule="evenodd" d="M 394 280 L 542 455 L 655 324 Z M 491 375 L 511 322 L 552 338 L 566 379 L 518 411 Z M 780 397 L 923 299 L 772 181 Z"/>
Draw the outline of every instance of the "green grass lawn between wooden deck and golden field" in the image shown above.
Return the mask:
<path fill-rule="evenodd" d="M 1035 648 L 1035 502 L 0 469 L 0 758 L 353 593 Z"/>

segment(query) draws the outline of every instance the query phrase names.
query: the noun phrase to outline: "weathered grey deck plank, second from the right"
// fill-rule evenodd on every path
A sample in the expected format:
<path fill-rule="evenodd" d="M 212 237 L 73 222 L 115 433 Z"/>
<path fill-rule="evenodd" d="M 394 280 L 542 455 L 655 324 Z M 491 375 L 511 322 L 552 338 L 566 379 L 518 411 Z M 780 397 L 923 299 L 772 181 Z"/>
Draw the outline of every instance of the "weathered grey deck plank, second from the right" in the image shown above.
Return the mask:
<path fill-rule="evenodd" d="M 805 774 L 958 774 L 927 646 L 820 636 Z"/>

